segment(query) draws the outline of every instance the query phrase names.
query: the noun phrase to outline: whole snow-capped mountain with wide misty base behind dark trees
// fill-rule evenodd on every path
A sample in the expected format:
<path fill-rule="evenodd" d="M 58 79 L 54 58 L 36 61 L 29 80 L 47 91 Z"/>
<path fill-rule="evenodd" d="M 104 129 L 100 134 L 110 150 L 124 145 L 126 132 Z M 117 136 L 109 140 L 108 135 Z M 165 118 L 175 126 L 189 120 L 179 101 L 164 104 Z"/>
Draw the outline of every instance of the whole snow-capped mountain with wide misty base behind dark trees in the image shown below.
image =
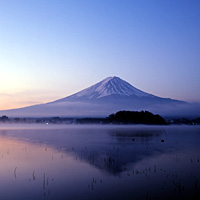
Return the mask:
<path fill-rule="evenodd" d="M 119 110 L 148 110 L 161 115 L 177 115 L 188 110 L 188 103 L 143 92 L 119 77 L 108 77 L 73 95 L 46 104 L 0 111 L 15 117 L 93 117 Z"/>

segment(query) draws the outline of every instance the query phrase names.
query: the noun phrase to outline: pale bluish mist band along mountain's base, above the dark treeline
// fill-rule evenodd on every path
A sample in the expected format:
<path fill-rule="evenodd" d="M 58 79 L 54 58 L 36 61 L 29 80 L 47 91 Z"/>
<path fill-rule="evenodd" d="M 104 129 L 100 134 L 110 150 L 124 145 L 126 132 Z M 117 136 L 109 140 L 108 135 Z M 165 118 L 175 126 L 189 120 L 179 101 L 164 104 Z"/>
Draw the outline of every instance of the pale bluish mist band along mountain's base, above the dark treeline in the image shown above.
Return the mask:
<path fill-rule="evenodd" d="M 108 117 L 120 110 L 141 111 L 147 110 L 159 114 L 164 118 L 197 118 L 200 115 L 199 103 L 186 103 L 176 106 L 154 105 L 137 106 L 135 104 L 116 105 L 83 102 L 60 102 L 56 104 L 36 105 L 26 108 L 0 111 L 0 116 L 8 117 Z"/>

